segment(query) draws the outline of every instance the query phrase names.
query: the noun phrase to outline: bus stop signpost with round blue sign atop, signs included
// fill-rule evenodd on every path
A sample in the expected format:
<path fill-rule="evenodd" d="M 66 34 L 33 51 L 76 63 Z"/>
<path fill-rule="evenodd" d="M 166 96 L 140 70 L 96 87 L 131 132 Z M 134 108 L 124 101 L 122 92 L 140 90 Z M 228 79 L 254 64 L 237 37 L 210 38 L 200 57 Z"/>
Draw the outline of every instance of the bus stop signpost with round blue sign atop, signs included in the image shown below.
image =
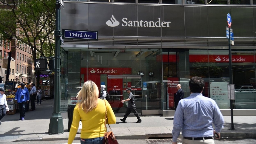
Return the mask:
<path fill-rule="evenodd" d="M 230 32 L 230 27 L 232 24 L 232 19 L 231 19 L 231 15 L 228 13 L 227 14 L 227 22 L 228 22 L 228 55 L 229 55 L 229 84 L 232 85 L 233 84 L 233 75 L 232 75 L 232 57 L 231 57 L 231 32 Z M 227 33 L 227 32 L 226 32 Z M 232 30 L 233 33 L 233 30 Z M 232 36 L 233 37 L 233 36 Z M 234 39 L 233 39 L 234 42 Z M 231 89 L 231 86 L 230 86 Z M 235 130 L 234 129 L 234 122 L 233 122 L 233 100 L 230 99 L 230 113 L 231 113 L 231 130 Z"/>

